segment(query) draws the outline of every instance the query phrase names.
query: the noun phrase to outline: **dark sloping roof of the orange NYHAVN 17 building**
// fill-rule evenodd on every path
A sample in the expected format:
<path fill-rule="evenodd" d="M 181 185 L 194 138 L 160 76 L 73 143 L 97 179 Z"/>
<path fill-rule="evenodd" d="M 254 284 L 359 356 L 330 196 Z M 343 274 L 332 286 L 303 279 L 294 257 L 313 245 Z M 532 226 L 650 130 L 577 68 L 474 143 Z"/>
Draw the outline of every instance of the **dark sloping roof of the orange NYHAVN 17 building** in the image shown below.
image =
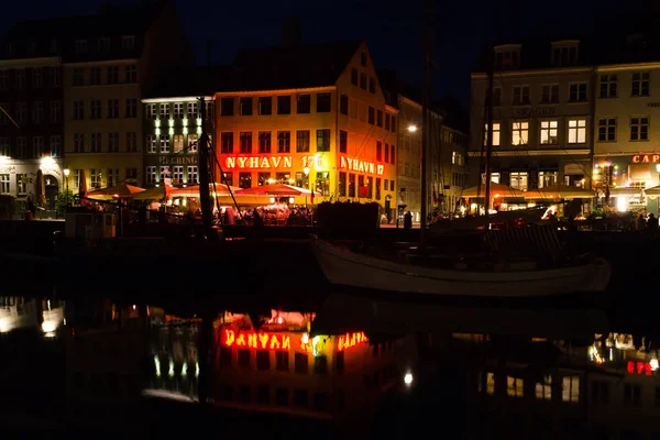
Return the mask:
<path fill-rule="evenodd" d="M 223 91 L 333 86 L 362 42 L 296 44 L 239 51 Z"/>

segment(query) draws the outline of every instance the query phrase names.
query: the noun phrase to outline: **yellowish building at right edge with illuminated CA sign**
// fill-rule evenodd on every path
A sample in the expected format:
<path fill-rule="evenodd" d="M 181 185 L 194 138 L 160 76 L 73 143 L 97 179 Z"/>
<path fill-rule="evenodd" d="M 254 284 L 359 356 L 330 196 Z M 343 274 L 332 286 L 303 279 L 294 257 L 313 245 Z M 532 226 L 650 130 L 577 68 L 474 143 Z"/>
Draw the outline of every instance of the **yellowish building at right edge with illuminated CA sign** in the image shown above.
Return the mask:
<path fill-rule="evenodd" d="M 596 68 L 594 186 L 617 211 L 648 209 L 656 197 L 644 190 L 660 184 L 660 64 L 612 64 Z"/>

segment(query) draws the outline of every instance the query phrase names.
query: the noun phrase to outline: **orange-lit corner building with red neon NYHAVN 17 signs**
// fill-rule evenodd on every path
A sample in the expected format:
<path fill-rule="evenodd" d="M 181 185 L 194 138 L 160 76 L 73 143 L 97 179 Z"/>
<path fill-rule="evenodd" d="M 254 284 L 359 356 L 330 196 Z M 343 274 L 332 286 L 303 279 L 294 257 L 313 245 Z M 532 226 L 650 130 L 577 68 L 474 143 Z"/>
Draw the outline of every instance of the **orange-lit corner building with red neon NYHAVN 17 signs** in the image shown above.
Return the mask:
<path fill-rule="evenodd" d="M 230 184 L 314 183 L 315 204 L 394 210 L 397 110 L 364 42 L 242 51 L 215 98 L 215 145 Z"/>

